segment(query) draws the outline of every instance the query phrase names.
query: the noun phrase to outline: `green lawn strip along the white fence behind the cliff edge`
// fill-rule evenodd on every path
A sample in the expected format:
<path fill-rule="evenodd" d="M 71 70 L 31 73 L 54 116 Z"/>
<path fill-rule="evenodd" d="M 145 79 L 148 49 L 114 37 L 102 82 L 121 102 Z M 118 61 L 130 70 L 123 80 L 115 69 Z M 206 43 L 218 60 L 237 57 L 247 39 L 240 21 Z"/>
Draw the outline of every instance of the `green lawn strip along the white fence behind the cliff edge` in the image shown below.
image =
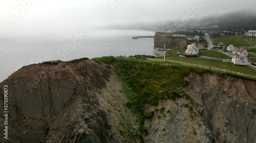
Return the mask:
<path fill-rule="evenodd" d="M 249 74 L 249 75 L 256 75 L 256 69 L 253 69 L 248 66 L 236 66 L 232 63 L 223 63 L 221 60 L 208 60 L 208 59 L 200 59 L 200 58 L 180 57 L 179 55 L 175 54 L 176 51 L 179 51 L 180 53 L 184 53 L 184 50 L 173 50 L 173 54 L 171 56 L 166 56 L 165 60 L 190 63 L 190 64 L 198 64 L 198 65 L 203 65 L 203 66 L 210 66 L 210 67 L 215 67 L 215 68 L 226 69 L 226 70 L 230 70 L 230 71 L 236 71 L 236 72 Z M 205 51 L 207 51 L 207 50 L 205 50 Z M 210 50 L 210 51 L 213 51 L 213 50 Z M 205 56 L 207 56 L 207 55 L 205 55 Z M 158 59 L 163 59 L 163 57 L 160 57 Z M 256 59 L 254 61 L 256 61 Z"/>

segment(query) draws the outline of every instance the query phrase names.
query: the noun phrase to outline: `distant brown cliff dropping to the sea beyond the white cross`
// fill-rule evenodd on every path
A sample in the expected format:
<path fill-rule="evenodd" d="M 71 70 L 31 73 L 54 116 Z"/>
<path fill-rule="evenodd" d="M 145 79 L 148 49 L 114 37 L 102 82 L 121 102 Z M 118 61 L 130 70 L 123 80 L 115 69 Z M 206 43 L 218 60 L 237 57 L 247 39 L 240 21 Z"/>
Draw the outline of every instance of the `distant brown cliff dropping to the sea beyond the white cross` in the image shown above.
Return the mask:
<path fill-rule="evenodd" d="M 155 47 L 163 47 L 166 44 L 166 48 L 172 49 L 184 49 L 187 46 L 187 42 L 185 38 L 172 37 L 167 33 L 159 33 L 157 32 L 154 36 L 154 44 Z"/>

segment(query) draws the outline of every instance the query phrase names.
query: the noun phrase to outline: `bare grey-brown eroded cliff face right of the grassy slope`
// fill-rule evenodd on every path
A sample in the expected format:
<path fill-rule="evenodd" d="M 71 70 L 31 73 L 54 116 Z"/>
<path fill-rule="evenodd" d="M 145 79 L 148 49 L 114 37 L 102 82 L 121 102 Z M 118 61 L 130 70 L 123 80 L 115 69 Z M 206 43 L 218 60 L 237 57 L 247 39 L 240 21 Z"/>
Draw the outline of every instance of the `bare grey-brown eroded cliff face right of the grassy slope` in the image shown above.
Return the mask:
<path fill-rule="evenodd" d="M 256 82 L 190 73 L 186 99 L 161 101 L 148 127 L 146 142 L 255 142 Z"/>

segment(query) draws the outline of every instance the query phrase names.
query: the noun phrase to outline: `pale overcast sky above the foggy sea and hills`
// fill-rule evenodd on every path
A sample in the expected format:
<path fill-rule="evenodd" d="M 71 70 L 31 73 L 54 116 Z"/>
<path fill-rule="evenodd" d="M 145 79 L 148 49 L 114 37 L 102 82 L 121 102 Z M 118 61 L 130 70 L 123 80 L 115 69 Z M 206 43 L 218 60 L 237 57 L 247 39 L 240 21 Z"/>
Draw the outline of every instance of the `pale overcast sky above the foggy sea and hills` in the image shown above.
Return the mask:
<path fill-rule="evenodd" d="M 182 14 L 191 12 L 191 7 L 200 7 L 194 18 L 201 18 L 255 10 L 255 5 L 255 0 L 0 0 L 0 30 L 181 20 Z"/>

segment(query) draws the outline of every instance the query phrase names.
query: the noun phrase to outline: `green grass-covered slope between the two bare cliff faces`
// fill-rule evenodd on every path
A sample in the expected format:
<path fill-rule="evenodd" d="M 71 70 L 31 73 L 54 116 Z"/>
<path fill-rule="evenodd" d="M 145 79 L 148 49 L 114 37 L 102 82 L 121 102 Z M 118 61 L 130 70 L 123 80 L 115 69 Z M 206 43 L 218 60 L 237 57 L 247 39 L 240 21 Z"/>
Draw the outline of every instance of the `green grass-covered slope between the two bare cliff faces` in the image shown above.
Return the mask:
<path fill-rule="evenodd" d="M 141 123 L 139 127 L 140 136 L 147 133 L 147 130 L 143 126 L 144 119 L 154 116 L 154 112 L 144 111 L 143 107 L 145 103 L 158 105 L 160 100 L 185 98 L 193 104 L 191 97 L 183 91 L 183 87 L 188 84 L 188 81 L 185 81 L 184 77 L 189 75 L 191 71 L 200 75 L 204 73 L 217 73 L 220 76 L 241 78 L 241 76 L 231 73 L 187 67 L 178 64 L 164 66 L 162 65 L 163 63 L 160 62 L 151 62 L 141 59 L 105 56 L 92 60 L 98 63 L 110 64 L 115 67 L 122 81 L 123 91 L 128 99 L 126 106 L 138 116 Z"/>

